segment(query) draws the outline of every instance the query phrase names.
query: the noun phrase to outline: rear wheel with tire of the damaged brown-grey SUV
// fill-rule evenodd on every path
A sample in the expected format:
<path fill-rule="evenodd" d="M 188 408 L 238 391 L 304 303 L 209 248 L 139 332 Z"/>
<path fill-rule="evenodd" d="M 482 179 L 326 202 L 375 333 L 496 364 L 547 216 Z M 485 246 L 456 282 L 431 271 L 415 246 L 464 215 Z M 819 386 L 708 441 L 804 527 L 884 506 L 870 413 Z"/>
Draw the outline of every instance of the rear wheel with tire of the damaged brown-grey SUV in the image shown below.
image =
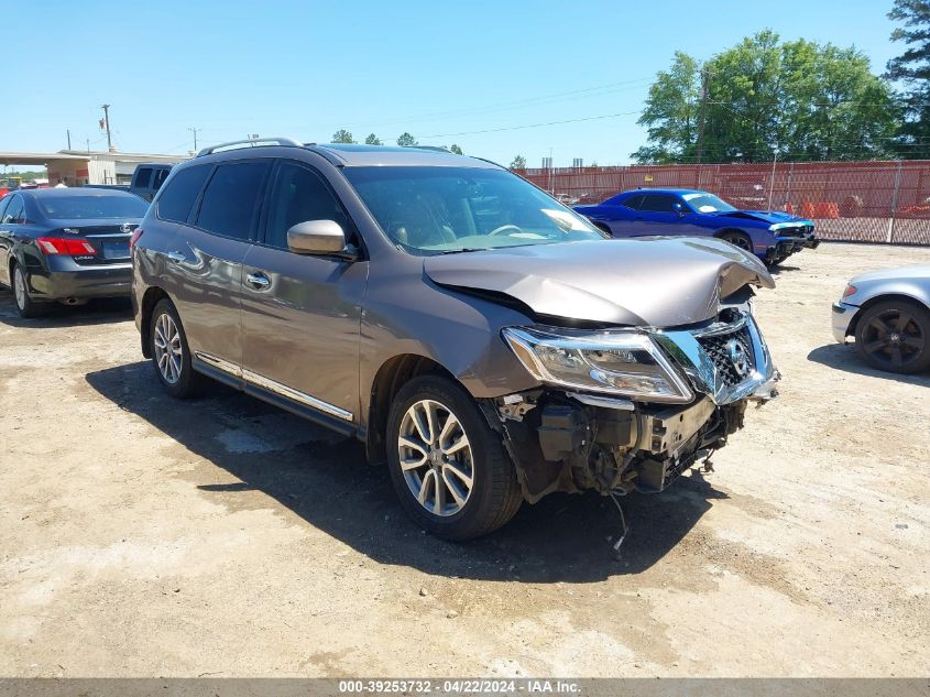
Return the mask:
<path fill-rule="evenodd" d="M 199 396 L 205 378 L 190 364 L 187 335 L 169 300 L 158 301 L 149 327 L 152 366 L 165 392 L 178 400 Z"/>

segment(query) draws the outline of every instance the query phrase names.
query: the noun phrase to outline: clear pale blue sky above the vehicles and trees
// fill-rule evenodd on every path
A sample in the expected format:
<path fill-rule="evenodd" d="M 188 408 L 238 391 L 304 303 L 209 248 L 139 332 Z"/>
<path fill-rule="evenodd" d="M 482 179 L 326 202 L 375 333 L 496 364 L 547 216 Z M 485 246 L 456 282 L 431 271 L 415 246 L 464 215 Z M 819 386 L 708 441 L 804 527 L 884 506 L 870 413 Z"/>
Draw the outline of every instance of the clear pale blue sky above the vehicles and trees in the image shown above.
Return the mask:
<path fill-rule="evenodd" d="M 699 58 L 765 28 L 855 45 L 882 72 L 891 0 L 683 2 L 14 2 L 4 10 L 0 150 L 184 153 L 261 135 L 403 131 L 530 166 L 623 164 L 675 50 Z M 35 33 L 32 33 L 34 30 Z M 15 80 L 11 81 L 13 76 Z M 619 115 L 619 116 L 615 116 Z M 581 120 L 584 119 L 584 120 Z M 573 121 L 538 128 L 514 128 Z M 499 130 L 507 129 L 507 130 Z M 478 132 L 484 131 L 484 132 Z"/>

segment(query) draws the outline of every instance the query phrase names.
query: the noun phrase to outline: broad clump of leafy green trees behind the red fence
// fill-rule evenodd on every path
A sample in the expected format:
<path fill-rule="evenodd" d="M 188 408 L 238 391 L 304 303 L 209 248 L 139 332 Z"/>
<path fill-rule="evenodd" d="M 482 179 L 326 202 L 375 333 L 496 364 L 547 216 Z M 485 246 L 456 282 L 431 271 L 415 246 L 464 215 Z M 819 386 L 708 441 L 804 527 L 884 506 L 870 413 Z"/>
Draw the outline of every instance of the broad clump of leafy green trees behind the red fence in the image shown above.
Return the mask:
<path fill-rule="evenodd" d="M 707 94 L 701 96 L 701 76 Z M 703 141 L 699 144 L 701 117 Z M 783 43 L 772 31 L 703 65 L 676 53 L 659 73 L 639 123 L 649 142 L 637 162 L 765 162 L 880 156 L 894 133 L 889 86 L 854 48 Z"/>

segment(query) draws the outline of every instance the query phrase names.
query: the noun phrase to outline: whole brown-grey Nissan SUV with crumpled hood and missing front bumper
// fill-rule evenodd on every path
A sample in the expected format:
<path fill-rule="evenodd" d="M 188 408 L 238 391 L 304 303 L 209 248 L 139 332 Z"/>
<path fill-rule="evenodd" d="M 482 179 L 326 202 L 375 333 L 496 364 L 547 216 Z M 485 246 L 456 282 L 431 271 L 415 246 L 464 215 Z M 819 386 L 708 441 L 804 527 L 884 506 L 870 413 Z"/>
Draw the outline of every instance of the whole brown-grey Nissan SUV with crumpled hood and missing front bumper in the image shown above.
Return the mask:
<path fill-rule="evenodd" d="M 552 491 L 661 491 L 775 394 L 757 259 L 604 239 L 482 160 L 231 143 L 176 166 L 142 230 L 165 389 L 208 375 L 359 438 L 445 537 Z"/>

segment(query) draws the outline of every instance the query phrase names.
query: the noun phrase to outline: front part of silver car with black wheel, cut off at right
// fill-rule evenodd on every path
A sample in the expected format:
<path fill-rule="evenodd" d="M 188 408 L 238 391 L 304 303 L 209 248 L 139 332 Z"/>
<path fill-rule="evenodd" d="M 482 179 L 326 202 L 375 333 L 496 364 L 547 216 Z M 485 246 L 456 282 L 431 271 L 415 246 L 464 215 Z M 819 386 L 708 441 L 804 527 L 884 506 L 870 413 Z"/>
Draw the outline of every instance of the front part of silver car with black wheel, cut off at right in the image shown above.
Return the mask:
<path fill-rule="evenodd" d="M 864 273 L 833 303 L 833 337 L 854 337 L 874 368 L 897 373 L 930 368 L 930 266 Z"/>

